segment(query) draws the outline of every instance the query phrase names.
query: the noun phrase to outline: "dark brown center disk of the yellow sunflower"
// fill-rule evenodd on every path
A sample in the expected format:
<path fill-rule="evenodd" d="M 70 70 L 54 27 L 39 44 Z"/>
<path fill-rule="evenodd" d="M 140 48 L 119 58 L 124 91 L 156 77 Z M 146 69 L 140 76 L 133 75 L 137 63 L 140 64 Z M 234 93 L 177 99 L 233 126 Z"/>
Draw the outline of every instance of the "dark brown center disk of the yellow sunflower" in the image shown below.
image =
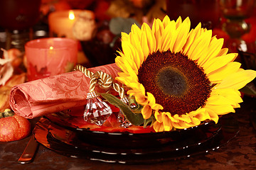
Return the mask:
<path fill-rule="evenodd" d="M 172 115 L 195 111 L 210 96 L 203 69 L 181 53 L 154 52 L 139 68 L 139 83 Z"/>

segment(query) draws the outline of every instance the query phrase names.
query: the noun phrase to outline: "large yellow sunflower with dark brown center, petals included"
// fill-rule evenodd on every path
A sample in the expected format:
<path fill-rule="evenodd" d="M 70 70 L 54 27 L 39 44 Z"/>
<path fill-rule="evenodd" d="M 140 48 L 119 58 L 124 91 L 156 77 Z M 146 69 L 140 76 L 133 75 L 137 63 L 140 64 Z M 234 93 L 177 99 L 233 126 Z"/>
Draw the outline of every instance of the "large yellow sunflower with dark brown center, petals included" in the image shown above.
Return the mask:
<path fill-rule="evenodd" d="M 115 63 L 116 79 L 129 87 L 127 94 L 143 106 L 144 119 L 154 116 L 156 132 L 190 128 L 204 120 L 235 113 L 240 91 L 256 77 L 253 70 L 234 62 L 238 54 L 222 48 L 223 39 L 212 30 L 191 29 L 189 18 L 155 19 L 152 28 L 133 25 L 122 33 L 122 51 Z"/>

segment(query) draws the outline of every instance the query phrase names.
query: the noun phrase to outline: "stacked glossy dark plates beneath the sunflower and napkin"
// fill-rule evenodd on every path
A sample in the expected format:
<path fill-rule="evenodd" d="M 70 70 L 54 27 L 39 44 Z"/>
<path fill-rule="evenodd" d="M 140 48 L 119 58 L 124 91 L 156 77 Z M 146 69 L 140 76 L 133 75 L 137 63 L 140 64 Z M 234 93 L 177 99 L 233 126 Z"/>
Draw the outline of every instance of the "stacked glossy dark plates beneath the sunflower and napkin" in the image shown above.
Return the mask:
<path fill-rule="evenodd" d="M 191 157 L 225 145 L 238 133 L 235 120 L 171 132 L 133 134 L 97 132 L 56 125 L 41 118 L 33 133 L 36 140 L 68 157 L 119 164 L 153 164 Z"/>

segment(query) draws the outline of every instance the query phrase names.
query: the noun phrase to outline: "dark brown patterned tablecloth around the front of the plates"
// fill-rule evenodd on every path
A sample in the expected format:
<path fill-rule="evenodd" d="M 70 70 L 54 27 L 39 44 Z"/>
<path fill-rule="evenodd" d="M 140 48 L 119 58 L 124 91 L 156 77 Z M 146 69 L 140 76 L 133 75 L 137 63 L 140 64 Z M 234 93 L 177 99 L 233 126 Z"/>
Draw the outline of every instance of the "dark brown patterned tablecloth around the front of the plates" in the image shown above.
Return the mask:
<path fill-rule="evenodd" d="M 256 114 L 256 98 L 245 97 L 241 108 L 236 113 L 230 113 L 238 120 L 240 131 L 228 144 L 210 151 L 198 154 L 187 159 L 161 162 L 157 164 L 110 164 L 95 162 L 87 159 L 66 157 L 39 145 L 36 157 L 30 164 L 18 164 L 30 137 L 15 142 L 0 142 L 0 169 L 225 169 L 242 170 L 256 169 L 256 131 L 253 128 L 252 115 Z M 35 125 L 38 118 L 30 120 Z"/>

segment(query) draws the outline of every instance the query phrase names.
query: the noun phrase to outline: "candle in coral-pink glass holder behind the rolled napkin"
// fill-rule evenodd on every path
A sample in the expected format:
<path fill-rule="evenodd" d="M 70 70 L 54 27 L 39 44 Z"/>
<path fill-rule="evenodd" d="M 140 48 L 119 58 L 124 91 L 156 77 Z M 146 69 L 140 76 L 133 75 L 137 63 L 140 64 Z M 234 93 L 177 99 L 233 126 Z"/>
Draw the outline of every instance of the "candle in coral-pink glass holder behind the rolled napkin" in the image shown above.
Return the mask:
<path fill-rule="evenodd" d="M 78 41 L 40 38 L 25 45 L 28 81 L 70 72 L 78 60 Z"/>

